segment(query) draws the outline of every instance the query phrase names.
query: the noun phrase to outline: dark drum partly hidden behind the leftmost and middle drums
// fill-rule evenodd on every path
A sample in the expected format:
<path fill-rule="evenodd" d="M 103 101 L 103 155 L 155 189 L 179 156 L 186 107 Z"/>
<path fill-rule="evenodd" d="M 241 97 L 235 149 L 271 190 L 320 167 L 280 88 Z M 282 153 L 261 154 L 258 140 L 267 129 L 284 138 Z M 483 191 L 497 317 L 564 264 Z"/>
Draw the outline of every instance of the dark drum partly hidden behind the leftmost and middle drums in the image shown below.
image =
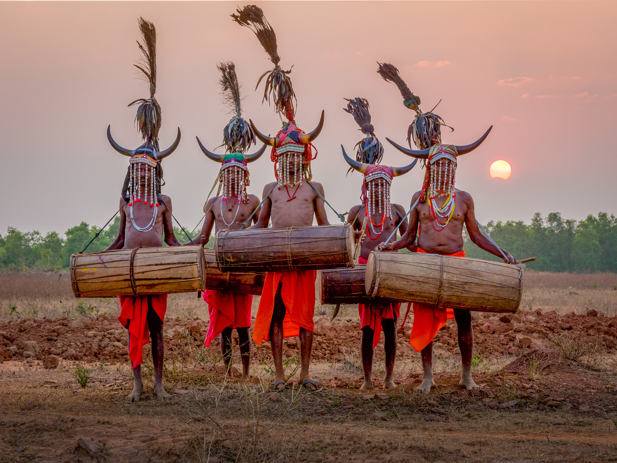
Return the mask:
<path fill-rule="evenodd" d="M 204 249 L 205 289 L 262 294 L 265 272 L 226 272 L 218 269 L 214 249 Z"/>

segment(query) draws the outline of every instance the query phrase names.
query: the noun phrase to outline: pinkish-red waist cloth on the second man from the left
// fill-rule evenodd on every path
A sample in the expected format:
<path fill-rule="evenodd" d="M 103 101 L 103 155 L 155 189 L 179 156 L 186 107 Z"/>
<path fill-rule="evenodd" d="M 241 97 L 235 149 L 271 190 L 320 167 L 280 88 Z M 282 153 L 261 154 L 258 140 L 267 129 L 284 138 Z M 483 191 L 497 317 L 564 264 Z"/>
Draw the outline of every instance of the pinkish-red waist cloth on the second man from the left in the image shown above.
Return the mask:
<path fill-rule="evenodd" d="M 228 326 L 231 328 L 251 326 L 252 294 L 206 289 L 202 297 L 208 303 L 210 314 L 210 326 L 204 341 L 205 347 L 210 347 L 212 339 L 215 339 Z"/>

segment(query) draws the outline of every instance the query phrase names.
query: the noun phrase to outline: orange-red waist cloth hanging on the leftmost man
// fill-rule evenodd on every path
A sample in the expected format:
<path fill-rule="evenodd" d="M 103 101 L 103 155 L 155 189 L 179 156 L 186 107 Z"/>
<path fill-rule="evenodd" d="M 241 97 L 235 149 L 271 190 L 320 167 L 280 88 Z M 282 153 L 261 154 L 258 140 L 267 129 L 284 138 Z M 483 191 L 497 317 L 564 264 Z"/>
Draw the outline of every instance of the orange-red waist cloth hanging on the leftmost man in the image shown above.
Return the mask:
<path fill-rule="evenodd" d="M 120 316 L 118 321 L 128 328 L 128 356 L 133 363 L 133 369 L 144 360 L 143 347 L 150 340 L 148 331 L 148 301 L 151 301 L 154 312 L 159 316 L 160 323 L 165 320 L 167 312 L 167 294 L 152 294 L 151 296 L 120 296 Z"/>

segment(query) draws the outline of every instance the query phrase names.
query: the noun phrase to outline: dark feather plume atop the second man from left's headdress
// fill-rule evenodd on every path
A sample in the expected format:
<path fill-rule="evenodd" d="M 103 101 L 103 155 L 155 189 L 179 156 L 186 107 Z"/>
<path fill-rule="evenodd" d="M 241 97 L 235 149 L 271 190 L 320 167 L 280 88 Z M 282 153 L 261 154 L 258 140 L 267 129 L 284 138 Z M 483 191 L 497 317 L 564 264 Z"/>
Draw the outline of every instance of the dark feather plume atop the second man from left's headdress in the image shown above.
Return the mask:
<path fill-rule="evenodd" d="M 223 129 L 223 145 L 227 153 L 244 153 L 251 143 L 255 143 L 255 134 L 249 123 L 242 116 L 242 98 L 240 84 L 236 74 L 236 65 L 232 62 L 218 63 L 221 78 L 223 104 L 233 113 L 230 122 Z"/>

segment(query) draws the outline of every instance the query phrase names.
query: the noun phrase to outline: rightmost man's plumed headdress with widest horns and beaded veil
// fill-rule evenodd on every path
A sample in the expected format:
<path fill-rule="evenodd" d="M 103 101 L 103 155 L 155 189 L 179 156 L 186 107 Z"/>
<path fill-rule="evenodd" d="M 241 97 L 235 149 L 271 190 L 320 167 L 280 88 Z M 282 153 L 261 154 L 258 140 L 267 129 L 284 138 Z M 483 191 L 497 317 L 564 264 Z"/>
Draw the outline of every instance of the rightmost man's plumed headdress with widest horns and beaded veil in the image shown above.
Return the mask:
<path fill-rule="evenodd" d="M 407 142 L 411 148 L 413 139 L 413 143 L 420 150 L 407 149 L 390 139 L 386 138 L 386 140 L 406 155 L 424 160 L 426 173 L 424 174 L 420 201 L 421 203 L 428 201 L 431 223 L 434 219 L 433 227 L 436 227 L 436 230 L 442 230 L 454 212 L 457 158 L 478 148 L 489 135 L 493 126 L 489 127 L 482 137 L 476 142 L 470 143 L 470 145 L 442 145 L 441 126 L 449 127 L 451 131 L 454 129 L 445 125 L 444 120 L 433 113 L 435 108 L 428 113 L 423 113 L 420 110 L 420 98 L 410 91 L 405 81 L 400 77 L 397 68 L 390 63 L 378 63 L 378 65 L 377 72 L 379 75 L 385 81 L 391 82 L 399 88 L 405 107 L 416 111 L 415 118 L 407 130 Z M 447 196 L 442 207 L 437 206 L 435 201 L 438 196 Z"/>

